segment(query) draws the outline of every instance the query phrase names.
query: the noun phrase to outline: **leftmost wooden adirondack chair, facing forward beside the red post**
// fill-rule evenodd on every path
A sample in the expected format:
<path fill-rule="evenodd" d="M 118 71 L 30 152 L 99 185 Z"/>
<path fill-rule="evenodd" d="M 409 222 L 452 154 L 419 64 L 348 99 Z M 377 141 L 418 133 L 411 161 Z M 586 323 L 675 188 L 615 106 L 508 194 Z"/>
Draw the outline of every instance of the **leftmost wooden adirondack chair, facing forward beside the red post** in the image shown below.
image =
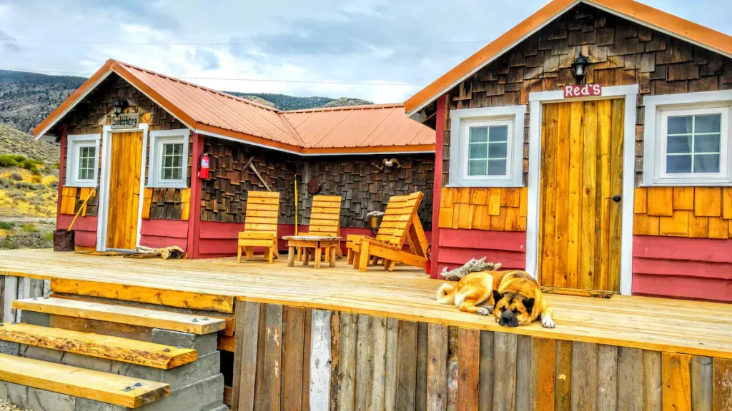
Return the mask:
<path fill-rule="evenodd" d="M 242 262 L 242 252 L 253 260 L 254 247 L 266 248 L 269 263 L 277 258 L 277 219 L 280 216 L 279 192 L 249 192 L 244 231 L 239 233 L 236 262 Z"/>

